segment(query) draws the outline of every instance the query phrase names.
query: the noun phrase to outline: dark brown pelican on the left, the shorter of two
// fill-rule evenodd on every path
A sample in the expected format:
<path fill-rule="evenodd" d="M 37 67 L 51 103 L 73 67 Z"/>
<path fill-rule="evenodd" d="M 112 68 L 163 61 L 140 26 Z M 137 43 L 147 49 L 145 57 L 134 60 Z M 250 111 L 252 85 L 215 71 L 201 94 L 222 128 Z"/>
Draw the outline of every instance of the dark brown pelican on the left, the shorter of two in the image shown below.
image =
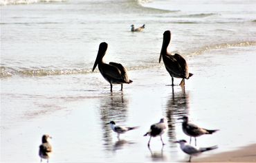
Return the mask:
<path fill-rule="evenodd" d="M 123 67 L 120 63 L 104 63 L 103 57 L 107 51 L 107 43 L 100 43 L 97 58 L 93 65 L 93 71 L 95 67 L 98 65 L 100 70 L 100 74 L 110 83 L 110 91 L 112 92 L 112 84 L 121 84 L 122 91 L 122 83 L 132 83 L 132 80 L 129 80 L 127 76 L 127 72 L 125 67 Z"/>

